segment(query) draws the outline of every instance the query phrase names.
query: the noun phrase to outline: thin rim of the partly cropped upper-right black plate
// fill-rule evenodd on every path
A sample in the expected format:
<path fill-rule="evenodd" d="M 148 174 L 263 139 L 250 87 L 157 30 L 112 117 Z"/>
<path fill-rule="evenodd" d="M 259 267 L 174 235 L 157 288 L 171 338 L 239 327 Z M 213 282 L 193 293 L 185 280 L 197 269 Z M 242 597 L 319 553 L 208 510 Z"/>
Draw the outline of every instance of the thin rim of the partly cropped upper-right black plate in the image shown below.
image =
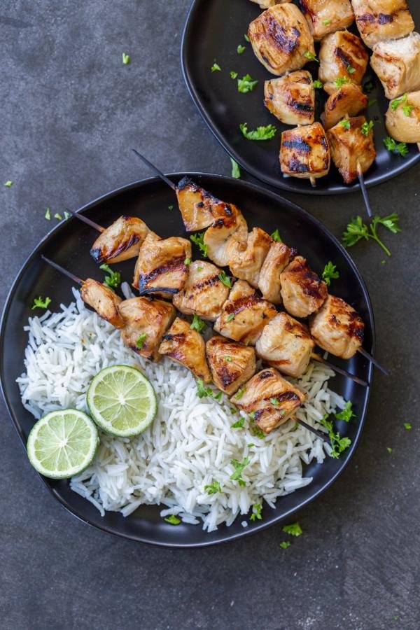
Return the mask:
<path fill-rule="evenodd" d="M 188 69 L 186 47 L 187 47 L 188 36 L 190 36 L 190 33 L 188 32 L 189 27 L 190 27 L 190 21 L 193 18 L 194 11 L 196 10 L 199 3 L 202 1 L 204 0 L 192 0 L 191 6 L 188 9 L 186 22 L 183 26 L 183 32 L 181 36 L 181 71 L 182 71 L 184 83 L 186 84 L 188 94 L 190 94 L 191 100 L 195 104 L 195 107 L 200 113 L 200 116 L 202 117 L 202 119 L 204 120 L 204 123 L 206 123 L 207 127 L 209 128 L 211 133 L 214 135 L 216 140 L 219 142 L 219 144 L 223 146 L 223 149 L 226 151 L 226 153 L 228 153 L 228 155 L 230 155 L 230 157 L 233 160 L 235 160 L 235 162 L 237 162 L 239 166 L 242 169 L 244 169 L 246 173 L 248 173 L 248 175 L 254 177 L 258 182 L 266 184 L 267 186 L 273 186 L 273 188 L 277 188 L 280 190 L 287 190 L 288 193 L 295 193 L 297 195 L 315 195 L 318 197 L 323 197 L 325 195 L 347 195 L 348 193 L 355 193 L 356 191 L 360 190 L 360 184 L 358 182 L 351 184 L 351 186 L 344 186 L 344 184 L 342 184 L 342 187 L 338 188 L 337 190 L 330 190 L 329 188 L 321 190 L 321 189 L 311 188 L 311 187 L 298 188 L 297 185 L 295 186 L 293 185 L 293 183 L 288 183 L 288 181 L 284 181 L 284 179 L 276 180 L 271 176 L 265 176 L 265 174 L 260 174 L 260 173 L 257 174 L 257 172 L 255 172 L 255 169 L 253 168 L 252 165 L 250 165 L 246 160 L 243 160 L 241 158 L 241 155 L 233 151 L 233 149 L 230 146 L 228 146 L 227 143 L 225 143 L 223 139 L 223 134 L 219 132 L 216 125 L 214 125 L 214 123 L 211 122 L 209 116 L 207 115 L 207 110 L 202 105 L 200 97 L 198 97 L 197 90 L 194 87 L 193 80 L 190 77 L 190 71 Z M 409 169 L 417 165 L 419 162 L 420 162 L 420 150 L 419 150 L 419 154 L 415 155 L 413 160 L 411 160 L 410 162 L 401 162 L 401 165 L 398 166 L 396 169 L 393 169 L 391 173 L 384 172 L 381 175 L 377 176 L 372 181 L 367 181 L 365 183 L 366 188 L 373 188 L 374 186 L 378 186 L 379 184 L 384 183 L 385 181 L 389 181 L 393 179 L 394 177 L 398 177 L 400 174 L 408 171 Z M 289 179 L 292 181 L 295 181 L 295 179 L 297 178 L 290 177 Z"/>

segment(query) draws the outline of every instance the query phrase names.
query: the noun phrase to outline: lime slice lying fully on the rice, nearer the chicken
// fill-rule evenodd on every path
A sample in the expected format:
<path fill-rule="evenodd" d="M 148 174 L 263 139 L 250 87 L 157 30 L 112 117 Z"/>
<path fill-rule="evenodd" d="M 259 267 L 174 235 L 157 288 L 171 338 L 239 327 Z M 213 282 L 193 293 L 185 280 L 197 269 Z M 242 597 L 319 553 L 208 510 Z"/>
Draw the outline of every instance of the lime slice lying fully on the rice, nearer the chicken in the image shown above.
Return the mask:
<path fill-rule="evenodd" d="M 158 407 L 150 381 L 130 365 L 113 365 L 98 372 L 87 390 L 87 406 L 104 431 L 119 437 L 142 433 Z"/>

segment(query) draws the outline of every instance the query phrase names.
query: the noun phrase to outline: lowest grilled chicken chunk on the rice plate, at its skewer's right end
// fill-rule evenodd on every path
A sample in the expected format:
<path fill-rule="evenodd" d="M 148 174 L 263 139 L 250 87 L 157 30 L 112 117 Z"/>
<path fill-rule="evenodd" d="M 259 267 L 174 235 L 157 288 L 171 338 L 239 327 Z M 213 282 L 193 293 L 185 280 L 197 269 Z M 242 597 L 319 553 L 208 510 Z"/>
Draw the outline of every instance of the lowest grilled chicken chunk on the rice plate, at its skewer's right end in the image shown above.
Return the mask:
<path fill-rule="evenodd" d="M 255 424 L 271 433 L 274 428 L 286 422 L 304 402 L 305 395 L 300 388 L 280 376 L 272 367 L 262 370 L 244 386 L 244 393 L 230 399 L 233 405 L 254 414 Z"/>

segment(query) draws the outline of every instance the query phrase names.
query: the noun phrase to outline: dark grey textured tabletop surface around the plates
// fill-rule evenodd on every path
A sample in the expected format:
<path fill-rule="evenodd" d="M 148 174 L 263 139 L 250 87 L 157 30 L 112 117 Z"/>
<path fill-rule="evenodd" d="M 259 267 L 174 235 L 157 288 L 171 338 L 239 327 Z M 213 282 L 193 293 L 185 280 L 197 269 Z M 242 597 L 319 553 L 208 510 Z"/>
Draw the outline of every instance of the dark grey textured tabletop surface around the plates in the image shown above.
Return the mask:
<path fill-rule="evenodd" d="M 189 0 L 15 0 L 0 8 L 1 297 L 51 225 L 45 208 L 77 208 L 148 176 L 230 173 L 179 64 Z M 123 66 L 123 51 L 131 64 Z M 169 551 L 94 531 L 39 482 L 1 403 L 0 625 L 15 629 L 417 630 L 419 612 L 419 168 L 372 189 L 393 256 L 351 253 L 370 290 L 377 356 L 365 433 L 344 475 L 280 527 L 221 547 Z M 358 195 L 291 197 L 339 235 Z M 413 428 L 407 431 L 405 421 Z M 386 447 L 392 447 L 388 454 Z M 398 619 L 395 619 L 398 617 Z"/>

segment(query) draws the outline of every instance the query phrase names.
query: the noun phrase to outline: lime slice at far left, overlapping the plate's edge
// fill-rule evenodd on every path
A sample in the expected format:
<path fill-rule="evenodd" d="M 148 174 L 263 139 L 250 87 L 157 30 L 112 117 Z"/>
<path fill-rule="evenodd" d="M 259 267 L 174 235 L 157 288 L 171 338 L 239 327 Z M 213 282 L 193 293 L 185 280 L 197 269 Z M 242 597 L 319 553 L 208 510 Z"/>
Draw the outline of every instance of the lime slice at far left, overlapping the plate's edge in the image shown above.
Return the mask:
<path fill-rule="evenodd" d="M 34 424 L 27 451 L 41 475 L 66 479 L 87 468 L 98 444 L 98 430 L 89 416 L 78 409 L 57 409 Z"/>

